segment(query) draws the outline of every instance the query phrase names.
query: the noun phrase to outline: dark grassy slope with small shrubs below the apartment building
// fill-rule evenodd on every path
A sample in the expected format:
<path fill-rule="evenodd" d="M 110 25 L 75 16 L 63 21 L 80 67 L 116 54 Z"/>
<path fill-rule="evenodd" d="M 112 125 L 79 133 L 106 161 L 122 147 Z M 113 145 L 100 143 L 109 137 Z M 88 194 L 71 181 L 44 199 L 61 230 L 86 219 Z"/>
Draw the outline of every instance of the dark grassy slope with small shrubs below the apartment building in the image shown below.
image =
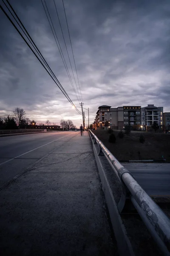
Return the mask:
<path fill-rule="evenodd" d="M 116 143 L 109 143 L 107 130 L 95 130 L 93 133 L 102 141 L 118 160 L 161 160 L 162 156 L 170 163 L 170 134 L 137 132 L 119 138 L 119 131 L 113 131 Z M 144 143 L 140 143 L 140 136 L 144 135 Z"/>

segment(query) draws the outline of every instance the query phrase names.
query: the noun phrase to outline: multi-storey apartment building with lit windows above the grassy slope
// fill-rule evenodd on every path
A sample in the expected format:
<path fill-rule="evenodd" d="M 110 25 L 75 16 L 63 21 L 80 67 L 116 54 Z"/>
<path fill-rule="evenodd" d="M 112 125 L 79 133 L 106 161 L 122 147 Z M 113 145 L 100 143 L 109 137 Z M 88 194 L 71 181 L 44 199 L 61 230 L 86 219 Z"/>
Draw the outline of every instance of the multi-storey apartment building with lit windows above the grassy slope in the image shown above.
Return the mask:
<path fill-rule="evenodd" d="M 169 116 L 167 116 L 169 118 Z M 94 120 L 95 129 L 112 129 L 121 130 L 125 125 L 136 126 L 138 129 L 146 130 L 154 121 L 159 126 L 163 126 L 163 107 L 154 105 L 141 106 L 123 106 L 111 108 L 108 105 L 99 106 Z M 169 120 L 169 119 L 168 119 Z M 105 126 L 108 121 L 109 126 Z M 169 121 L 167 121 L 169 124 Z"/>

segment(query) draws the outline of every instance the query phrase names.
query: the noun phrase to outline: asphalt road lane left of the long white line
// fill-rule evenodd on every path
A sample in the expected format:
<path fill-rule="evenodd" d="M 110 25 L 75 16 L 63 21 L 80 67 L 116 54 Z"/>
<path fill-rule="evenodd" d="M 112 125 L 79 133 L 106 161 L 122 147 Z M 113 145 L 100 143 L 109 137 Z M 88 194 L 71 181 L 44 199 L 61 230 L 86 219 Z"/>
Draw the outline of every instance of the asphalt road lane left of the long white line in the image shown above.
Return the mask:
<path fill-rule="evenodd" d="M 51 132 L 0 137 L 0 189 L 77 132 Z"/>

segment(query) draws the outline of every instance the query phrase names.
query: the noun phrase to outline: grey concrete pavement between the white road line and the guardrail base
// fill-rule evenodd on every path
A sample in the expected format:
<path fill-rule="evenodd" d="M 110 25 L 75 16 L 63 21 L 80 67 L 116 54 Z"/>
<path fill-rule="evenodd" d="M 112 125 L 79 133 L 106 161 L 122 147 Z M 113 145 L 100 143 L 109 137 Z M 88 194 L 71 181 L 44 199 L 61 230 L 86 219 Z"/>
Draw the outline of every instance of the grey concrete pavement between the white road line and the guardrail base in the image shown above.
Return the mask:
<path fill-rule="evenodd" d="M 0 192 L 3 256 L 118 255 L 88 132 Z"/>

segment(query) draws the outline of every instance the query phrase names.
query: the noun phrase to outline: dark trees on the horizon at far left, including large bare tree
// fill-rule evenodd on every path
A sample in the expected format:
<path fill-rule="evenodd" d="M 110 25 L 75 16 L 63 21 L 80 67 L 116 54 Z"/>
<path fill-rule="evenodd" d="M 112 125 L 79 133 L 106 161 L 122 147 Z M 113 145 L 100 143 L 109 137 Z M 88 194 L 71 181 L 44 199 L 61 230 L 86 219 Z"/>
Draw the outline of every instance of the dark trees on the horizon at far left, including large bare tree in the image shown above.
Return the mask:
<path fill-rule="evenodd" d="M 35 125 L 37 125 L 37 122 L 26 117 L 26 112 L 23 108 L 17 107 L 11 115 L 4 117 L 4 119 L 0 118 L 0 130 L 28 129 L 34 128 Z M 43 123 L 39 123 L 38 125 L 44 126 Z M 47 120 L 45 125 L 51 125 L 51 122 Z M 53 125 L 56 124 L 53 122 Z"/>

